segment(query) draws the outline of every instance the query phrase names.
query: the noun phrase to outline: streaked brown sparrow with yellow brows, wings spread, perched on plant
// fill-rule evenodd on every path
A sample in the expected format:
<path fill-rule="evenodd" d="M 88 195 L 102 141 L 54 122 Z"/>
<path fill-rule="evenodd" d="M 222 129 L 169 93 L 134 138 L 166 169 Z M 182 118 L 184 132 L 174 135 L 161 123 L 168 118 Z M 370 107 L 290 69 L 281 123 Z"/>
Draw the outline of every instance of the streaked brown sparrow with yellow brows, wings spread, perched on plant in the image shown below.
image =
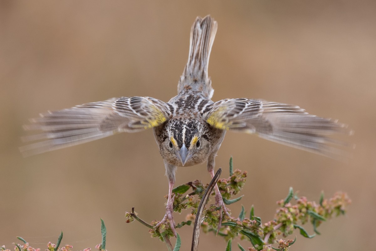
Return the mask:
<path fill-rule="evenodd" d="M 332 135 L 350 135 L 352 130 L 338 120 L 311 115 L 296 105 L 263 99 L 212 101 L 214 89 L 208 66 L 217 27 L 217 21 L 210 15 L 194 21 L 188 61 L 177 84 L 177 96 L 168 102 L 153 97 L 115 97 L 42 113 L 24 126 L 33 134 L 23 137 L 28 145 L 20 151 L 24 156 L 41 154 L 120 132 L 152 128 L 168 179 L 166 213 L 157 225 L 170 222 L 175 236 L 172 189 L 177 167 L 206 161 L 213 177 L 215 156 L 227 131 L 255 134 L 331 158 L 342 156 L 341 147 L 346 143 Z M 218 186 L 215 186 L 215 201 L 221 222 L 223 214 L 230 214 Z"/>

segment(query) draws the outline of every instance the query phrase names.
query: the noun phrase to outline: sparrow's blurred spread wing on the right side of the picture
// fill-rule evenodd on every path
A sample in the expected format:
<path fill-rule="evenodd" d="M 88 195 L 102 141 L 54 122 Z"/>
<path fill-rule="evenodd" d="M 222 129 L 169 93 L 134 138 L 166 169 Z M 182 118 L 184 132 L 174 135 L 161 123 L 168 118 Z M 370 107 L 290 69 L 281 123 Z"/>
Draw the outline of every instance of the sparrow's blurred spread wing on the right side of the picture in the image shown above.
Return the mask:
<path fill-rule="evenodd" d="M 346 143 L 329 137 L 352 134 L 337 120 L 308 114 L 299 106 L 257 99 L 224 99 L 212 104 L 206 120 L 215 128 L 259 137 L 332 158 L 341 157 Z"/>

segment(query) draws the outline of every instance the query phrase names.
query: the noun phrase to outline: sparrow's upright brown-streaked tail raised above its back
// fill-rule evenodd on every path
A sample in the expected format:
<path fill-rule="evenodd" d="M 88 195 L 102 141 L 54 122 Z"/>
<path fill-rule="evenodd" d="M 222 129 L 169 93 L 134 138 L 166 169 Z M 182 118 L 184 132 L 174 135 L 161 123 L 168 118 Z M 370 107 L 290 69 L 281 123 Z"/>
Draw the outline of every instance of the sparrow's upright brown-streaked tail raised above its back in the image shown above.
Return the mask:
<path fill-rule="evenodd" d="M 178 93 L 190 90 L 200 91 L 208 98 L 213 96 L 208 65 L 217 27 L 217 22 L 209 15 L 196 18 L 191 28 L 188 62 L 177 86 Z"/>

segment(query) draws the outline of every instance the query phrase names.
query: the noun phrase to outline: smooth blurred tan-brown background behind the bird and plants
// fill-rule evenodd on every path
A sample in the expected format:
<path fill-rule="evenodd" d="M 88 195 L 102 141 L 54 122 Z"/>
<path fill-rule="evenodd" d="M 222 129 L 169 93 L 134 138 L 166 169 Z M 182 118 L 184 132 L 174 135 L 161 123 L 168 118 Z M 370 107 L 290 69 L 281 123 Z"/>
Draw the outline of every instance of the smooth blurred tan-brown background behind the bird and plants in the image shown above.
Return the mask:
<path fill-rule="evenodd" d="M 188 55 L 197 15 L 218 21 L 209 75 L 213 100 L 262 98 L 335 117 L 355 135 L 344 164 L 259 139 L 227 133 L 216 168 L 249 172 L 242 200 L 263 221 L 288 187 L 310 200 L 342 190 L 346 216 L 320 226 L 292 250 L 365 250 L 376 234 L 376 15 L 374 1 L 1 1 L 0 2 L 0 245 L 16 236 L 44 248 L 64 231 L 75 250 L 101 241 L 108 250 L 166 250 L 125 211 L 150 222 L 164 215 L 164 165 L 152 131 L 22 158 L 22 125 L 47 110 L 119 96 L 168 101 Z M 205 164 L 179 168 L 177 183 L 209 182 Z M 235 215 L 239 207 L 230 207 Z M 177 221 L 185 216 L 175 214 Z M 307 227 L 312 233 L 312 228 Z M 182 250 L 192 228 L 179 231 Z M 294 236 L 293 236 L 294 238 Z M 235 244 L 238 240 L 234 240 Z M 242 242 L 243 246 L 250 243 Z M 224 250 L 213 234 L 200 250 Z"/>

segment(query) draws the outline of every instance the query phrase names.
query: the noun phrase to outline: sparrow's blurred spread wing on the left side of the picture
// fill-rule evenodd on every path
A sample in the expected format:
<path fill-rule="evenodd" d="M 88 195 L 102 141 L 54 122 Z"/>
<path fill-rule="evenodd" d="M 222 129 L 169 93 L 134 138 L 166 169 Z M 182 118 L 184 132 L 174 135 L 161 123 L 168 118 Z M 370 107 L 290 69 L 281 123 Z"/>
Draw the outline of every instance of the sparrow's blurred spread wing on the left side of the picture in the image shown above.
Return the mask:
<path fill-rule="evenodd" d="M 25 130 L 33 135 L 23 141 L 24 156 L 107 137 L 119 132 L 137 132 L 164 123 L 170 117 L 167 103 L 151 97 L 121 97 L 86 103 L 40 114 Z"/>

